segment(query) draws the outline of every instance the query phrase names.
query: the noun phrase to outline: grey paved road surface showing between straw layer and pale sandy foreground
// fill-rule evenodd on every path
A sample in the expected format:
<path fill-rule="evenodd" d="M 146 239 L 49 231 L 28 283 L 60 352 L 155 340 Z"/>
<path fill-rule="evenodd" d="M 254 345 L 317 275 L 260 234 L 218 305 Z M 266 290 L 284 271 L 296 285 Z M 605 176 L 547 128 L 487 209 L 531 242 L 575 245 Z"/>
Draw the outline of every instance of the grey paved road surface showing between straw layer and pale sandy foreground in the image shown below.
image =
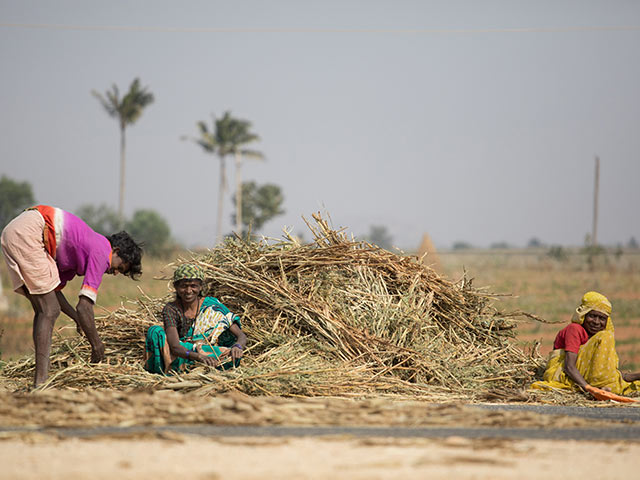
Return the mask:
<path fill-rule="evenodd" d="M 141 433 L 174 432 L 207 437 L 305 437 L 351 436 L 393 438 L 512 438 L 640 441 L 640 408 L 634 407 L 562 407 L 551 405 L 477 405 L 489 410 L 526 410 L 541 414 L 570 415 L 582 418 L 627 421 L 629 425 L 610 428 L 468 428 L 468 427 L 281 427 L 168 425 L 161 427 L 43 428 L 65 437 L 91 438 L 103 435 L 128 436 Z M 637 423 L 636 423 L 637 422 Z M 0 431 L 34 431 L 0 426 Z"/>

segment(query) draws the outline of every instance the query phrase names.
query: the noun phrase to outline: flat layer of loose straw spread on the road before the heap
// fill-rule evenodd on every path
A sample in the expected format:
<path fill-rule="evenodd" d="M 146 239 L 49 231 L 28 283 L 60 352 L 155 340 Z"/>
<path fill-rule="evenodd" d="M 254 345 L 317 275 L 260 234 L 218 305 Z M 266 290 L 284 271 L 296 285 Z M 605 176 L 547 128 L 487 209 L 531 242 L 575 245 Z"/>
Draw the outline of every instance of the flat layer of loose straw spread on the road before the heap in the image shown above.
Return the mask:
<path fill-rule="evenodd" d="M 459 403 L 376 398 L 314 397 L 292 399 L 256 397 L 239 392 L 215 397 L 158 390 L 73 391 L 50 389 L 36 393 L 0 391 L 0 421 L 11 438 L 12 427 L 26 429 L 91 428 L 98 426 L 161 425 L 351 425 L 351 426 L 466 426 L 563 427 L 596 426 L 594 420 L 526 411 L 487 411 Z M 126 432 L 120 432 L 120 434 Z"/>

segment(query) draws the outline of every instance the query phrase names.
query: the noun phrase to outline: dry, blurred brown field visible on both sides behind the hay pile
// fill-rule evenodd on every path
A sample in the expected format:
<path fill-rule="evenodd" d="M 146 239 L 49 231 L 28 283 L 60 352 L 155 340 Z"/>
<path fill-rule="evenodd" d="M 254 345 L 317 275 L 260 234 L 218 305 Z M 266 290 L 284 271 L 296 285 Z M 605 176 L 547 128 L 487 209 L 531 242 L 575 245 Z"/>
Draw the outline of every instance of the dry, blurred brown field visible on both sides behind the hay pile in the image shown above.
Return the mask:
<path fill-rule="evenodd" d="M 568 252 L 565 260 L 555 260 L 546 250 L 462 250 L 439 252 L 442 272 L 451 280 L 462 277 L 473 279 L 475 287 L 486 287 L 493 293 L 502 293 L 496 302 L 499 309 L 524 310 L 544 318 L 548 325 L 538 322 L 522 322 L 518 342 L 531 347 L 540 342 L 540 351 L 546 354 L 557 331 L 571 318 L 582 294 L 597 290 L 607 295 L 613 303 L 613 320 L 616 341 L 623 370 L 640 370 L 640 254 L 636 251 L 621 255 L 608 254 L 598 257 L 590 270 L 584 255 Z M 167 293 L 167 278 L 171 269 L 164 269 L 169 260 L 145 259 L 144 275 L 140 282 L 126 277 L 107 277 L 100 288 L 98 308 L 100 313 L 112 310 L 126 299 L 135 299 L 143 291 L 152 297 Z M 4 261 L 0 264 L 5 291 L 8 287 Z M 79 279 L 66 289 L 73 300 L 80 287 Z M 15 358 L 32 351 L 31 308 L 26 299 L 6 292 L 10 310 L 0 314 L 0 351 L 2 358 Z M 70 322 L 61 315 L 58 328 Z"/>

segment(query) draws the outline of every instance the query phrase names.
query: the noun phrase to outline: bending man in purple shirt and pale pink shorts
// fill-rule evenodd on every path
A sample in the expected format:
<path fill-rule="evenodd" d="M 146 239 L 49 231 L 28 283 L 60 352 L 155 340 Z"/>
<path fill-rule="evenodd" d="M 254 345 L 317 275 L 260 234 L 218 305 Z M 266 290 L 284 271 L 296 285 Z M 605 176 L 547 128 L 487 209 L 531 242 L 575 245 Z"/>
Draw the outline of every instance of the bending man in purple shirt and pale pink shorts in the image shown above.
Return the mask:
<path fill-rule="evenodd" d="M 86 335 L 91 361 L 102 361 L 104 345 L 93 313 L 98 287 L 105 273 L 136 279 L 142 273 L 140 245 L 127 232 L 105 237 L 75 215 L 46 205 L 14 218 L 2 231 L 1 243 L 13 290 L 25 295 L 33 307 L 34 386 L 49 374 L 51 337 L 60 311 Z M 84 276 L 84 281 L 73 308 L 62 289 L 76 275 Z"/>

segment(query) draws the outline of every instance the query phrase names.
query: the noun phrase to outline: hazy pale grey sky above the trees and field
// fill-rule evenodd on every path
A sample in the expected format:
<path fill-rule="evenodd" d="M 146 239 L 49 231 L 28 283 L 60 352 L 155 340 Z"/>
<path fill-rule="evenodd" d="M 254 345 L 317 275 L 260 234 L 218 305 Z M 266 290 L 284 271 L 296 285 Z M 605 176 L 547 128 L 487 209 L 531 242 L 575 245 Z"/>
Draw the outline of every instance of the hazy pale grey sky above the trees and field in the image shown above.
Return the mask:
<path fill-rule="evenodd" d="M 125 28 L 126 27 L 126 28 Z M 581 245 L 601 159 L 604 243 L 640 239 L 640 2 L 0 0 L 0 174 L 74 211 L 118 198 L 119 132 L 91 90 L 140 77 L 127 214 L 210 245 L 218 160 L 181 141 L 250 120 L 283 225 L 326 210 L 413 249 Z M 232 162 L 229 161 L 233 182 Z M 231 230 L 231 189 L 224 230 Z"/>

